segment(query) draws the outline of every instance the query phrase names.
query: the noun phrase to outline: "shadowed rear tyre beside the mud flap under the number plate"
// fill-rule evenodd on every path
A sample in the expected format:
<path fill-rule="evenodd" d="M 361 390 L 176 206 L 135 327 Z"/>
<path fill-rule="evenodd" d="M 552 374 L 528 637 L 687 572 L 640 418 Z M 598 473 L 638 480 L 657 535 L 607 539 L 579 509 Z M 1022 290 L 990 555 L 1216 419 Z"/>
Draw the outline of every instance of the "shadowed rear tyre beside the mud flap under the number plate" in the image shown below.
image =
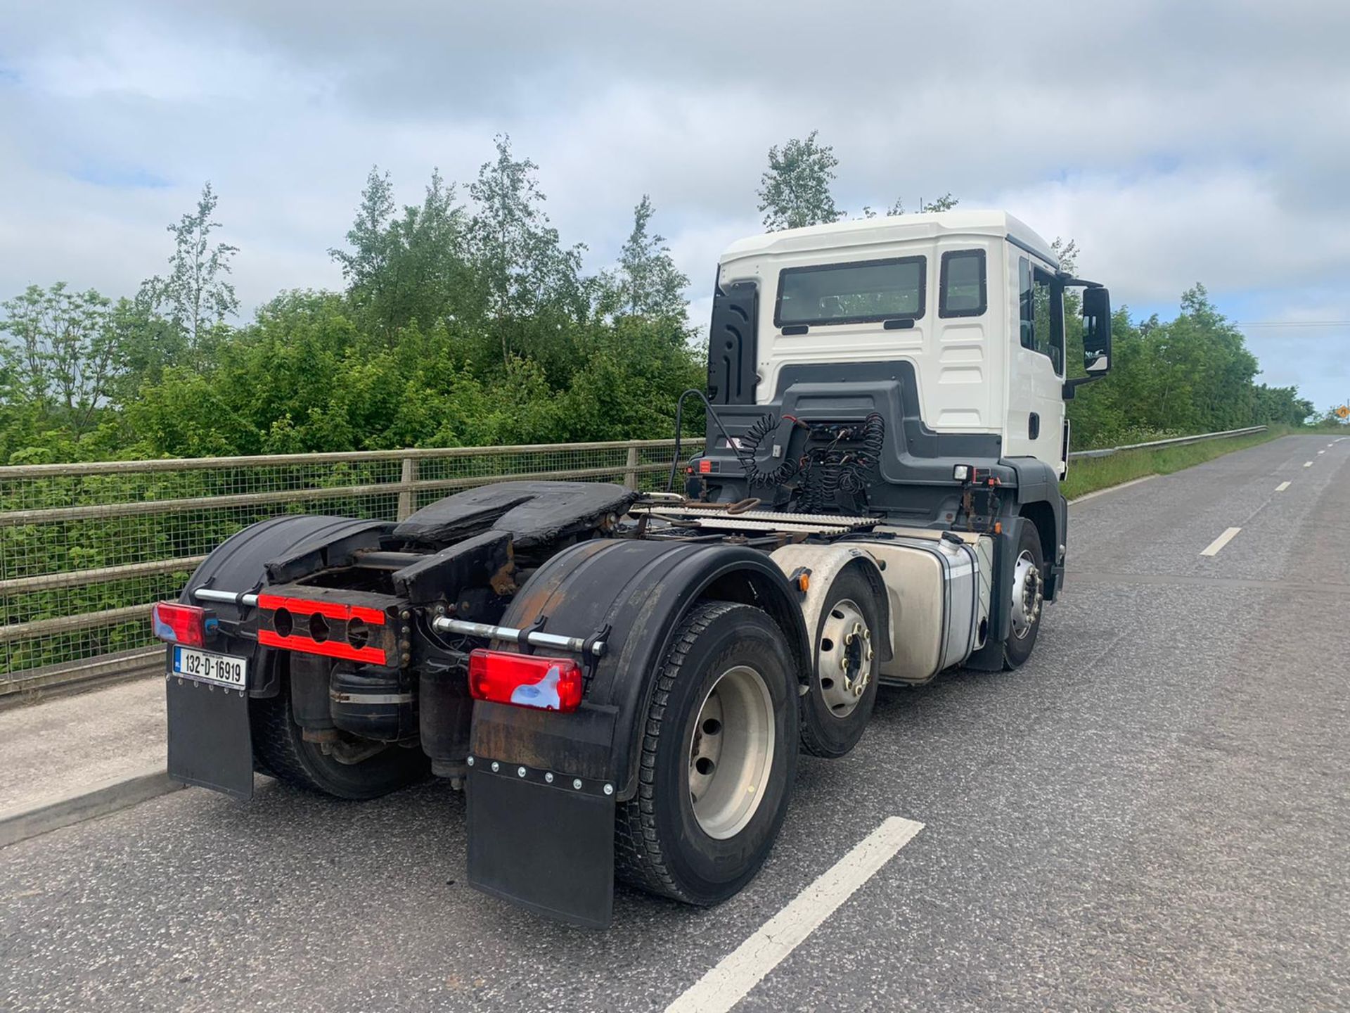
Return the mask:
<path fill-rule="evenodd" d="M 290 716 L 285 681 L 274 697 L 248 701 L 254 766 L 294 787 L 366 800 L 397 791 L 427 777 L 429 764 L 421 750 L 387 746 L 356 763 L 340 763 L 319 743 L 305 742 Z M 371 743 L 374 746 L 374 743 Z"/>

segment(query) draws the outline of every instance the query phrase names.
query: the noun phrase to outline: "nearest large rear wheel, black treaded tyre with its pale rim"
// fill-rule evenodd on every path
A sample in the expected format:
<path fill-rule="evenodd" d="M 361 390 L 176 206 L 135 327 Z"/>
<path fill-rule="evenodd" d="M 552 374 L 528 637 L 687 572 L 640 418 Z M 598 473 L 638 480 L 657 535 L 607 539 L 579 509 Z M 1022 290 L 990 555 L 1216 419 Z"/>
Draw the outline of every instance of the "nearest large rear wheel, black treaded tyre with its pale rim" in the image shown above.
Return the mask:
<path fill-rule="evenodd" d="M 659 669 L 637 796 L 618 806 L 620 879 L 698 905 L 751 881 L 792 793 L 796 686 L 783 632 L 764 612 L 694 606 Z"/>

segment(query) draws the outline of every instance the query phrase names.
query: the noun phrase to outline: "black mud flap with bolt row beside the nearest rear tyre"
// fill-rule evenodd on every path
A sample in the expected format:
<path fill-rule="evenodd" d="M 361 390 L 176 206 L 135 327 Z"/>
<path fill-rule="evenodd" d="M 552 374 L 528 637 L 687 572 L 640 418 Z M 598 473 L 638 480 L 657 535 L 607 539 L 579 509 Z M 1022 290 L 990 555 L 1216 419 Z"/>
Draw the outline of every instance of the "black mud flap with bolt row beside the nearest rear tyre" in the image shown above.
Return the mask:
<path fill-rule="evenodd" d="M 525 775 L 521 777 L 520 771 Z M 609 928 L 614 914 L 614 797 L 599 781 L 474 758 L 468 882 L 537 914 Z"/>

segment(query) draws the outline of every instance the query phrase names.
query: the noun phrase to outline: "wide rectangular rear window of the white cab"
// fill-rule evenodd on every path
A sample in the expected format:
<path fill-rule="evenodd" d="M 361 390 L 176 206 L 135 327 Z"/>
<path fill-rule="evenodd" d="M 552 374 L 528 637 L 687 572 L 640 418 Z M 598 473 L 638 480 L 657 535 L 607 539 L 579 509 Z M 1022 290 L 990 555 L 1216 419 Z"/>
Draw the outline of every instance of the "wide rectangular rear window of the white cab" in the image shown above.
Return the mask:
<path fill-rule="evenodd" d="M 778 277 L 776 327 L 863 324 L 923 316 L 923 257 L 787 267 Z"/>

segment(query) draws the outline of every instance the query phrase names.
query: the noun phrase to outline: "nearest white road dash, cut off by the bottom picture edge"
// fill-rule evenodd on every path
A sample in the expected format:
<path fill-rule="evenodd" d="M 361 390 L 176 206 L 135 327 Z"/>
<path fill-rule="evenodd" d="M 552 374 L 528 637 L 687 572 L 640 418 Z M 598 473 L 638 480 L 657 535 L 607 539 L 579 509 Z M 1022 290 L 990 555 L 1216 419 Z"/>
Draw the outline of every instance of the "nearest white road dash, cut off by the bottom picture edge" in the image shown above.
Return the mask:
<path fill-rule="evenodd" d="M 666 1013 L 725 1013 L 759 985 L 821 923 L 853 895 L 863 883 L 890 862 L 895 852 L 914 840 L 922 823 L 899 816 L 887 817 L 852 851 L 802 890 L 759 932 L 722 958 L 713 970 L 691 985 Z"/>

